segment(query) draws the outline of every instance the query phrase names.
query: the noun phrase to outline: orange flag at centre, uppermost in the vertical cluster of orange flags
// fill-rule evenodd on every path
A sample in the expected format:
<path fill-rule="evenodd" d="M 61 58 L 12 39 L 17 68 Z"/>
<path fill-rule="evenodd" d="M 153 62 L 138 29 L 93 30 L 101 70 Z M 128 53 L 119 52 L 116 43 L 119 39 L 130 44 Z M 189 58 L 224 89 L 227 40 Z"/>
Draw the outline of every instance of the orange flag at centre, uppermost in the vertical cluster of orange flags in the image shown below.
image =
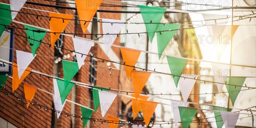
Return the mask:
<path fill-rule="evenodd" d="M 131 72 L 134 70 L 134 67 L 131 67 L 131 66 L 135 66 L 135 64 L 137 63 L 138 58 L 140 57 L 140 51 L 124 49 L 124 48 L 120 48 L 120 50 L 122 53 L 122 58 L 124 63 L 126 65 L 129 65 L 129 66 L 125 66 L 125 70 L 126 70 L 127 78 L 130 79 Z"/>

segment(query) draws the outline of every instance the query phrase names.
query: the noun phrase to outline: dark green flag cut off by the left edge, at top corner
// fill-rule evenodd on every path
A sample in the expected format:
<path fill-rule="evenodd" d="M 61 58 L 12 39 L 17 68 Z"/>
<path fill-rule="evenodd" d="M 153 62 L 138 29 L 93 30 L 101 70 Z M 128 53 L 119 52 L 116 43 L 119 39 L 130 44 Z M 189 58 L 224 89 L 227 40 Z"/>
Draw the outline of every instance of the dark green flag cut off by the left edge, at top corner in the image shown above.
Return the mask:
<path fill-rule="evenodd" d="M 3 25 L 8 26 L 12 22 L 12 15 L 11 15 L 11 9 L 10 5 L 0 3 L 0 35 L 3 34 L 4 29 L 6 28 Z"/>

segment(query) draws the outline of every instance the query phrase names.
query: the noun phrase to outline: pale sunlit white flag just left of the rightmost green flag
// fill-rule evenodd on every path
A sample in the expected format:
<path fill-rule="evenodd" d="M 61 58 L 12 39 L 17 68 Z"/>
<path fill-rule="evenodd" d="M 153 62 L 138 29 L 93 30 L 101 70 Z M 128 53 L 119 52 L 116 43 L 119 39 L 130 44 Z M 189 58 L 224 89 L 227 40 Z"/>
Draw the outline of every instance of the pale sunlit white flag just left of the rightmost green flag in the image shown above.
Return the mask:
<path fill-rule="evenodd" d="M 230 74 L 230 65 L 212 64 L 215 82 L 225 83 L 226 77 Z M 224 84 L 215 83 L 218 87 L 218 92 L 221 93 Z"/>

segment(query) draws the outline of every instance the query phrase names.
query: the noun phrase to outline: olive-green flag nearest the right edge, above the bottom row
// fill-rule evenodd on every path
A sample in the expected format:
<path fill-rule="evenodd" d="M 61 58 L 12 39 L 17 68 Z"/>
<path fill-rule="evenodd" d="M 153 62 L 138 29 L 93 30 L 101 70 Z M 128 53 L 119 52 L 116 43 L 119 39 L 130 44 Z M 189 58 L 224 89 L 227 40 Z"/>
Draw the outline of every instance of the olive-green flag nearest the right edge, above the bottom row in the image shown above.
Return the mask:
<path fill-rule="evenodd" d="M 226 79 L 227 84 L 233 84 L 238 86 L 226 85 L 227 92 L 230 96 L 232 105 L 234 106 L 236 98 L 240 93 L 240 90 L 244 84 L 246 77 L 230 77 Z"/>

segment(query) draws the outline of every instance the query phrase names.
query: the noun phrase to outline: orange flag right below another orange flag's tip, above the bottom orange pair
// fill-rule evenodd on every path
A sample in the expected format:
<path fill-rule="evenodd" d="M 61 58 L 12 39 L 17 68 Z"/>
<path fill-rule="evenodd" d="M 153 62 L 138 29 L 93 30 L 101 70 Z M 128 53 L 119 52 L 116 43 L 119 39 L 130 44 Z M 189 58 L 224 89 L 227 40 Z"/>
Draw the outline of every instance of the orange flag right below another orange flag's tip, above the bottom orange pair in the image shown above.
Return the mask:
<path fill-rule="evenodd" d="M 151 75 L 150 72 L 144 72 L 144 71 L 131 72 L 131 80 L 134 87 L 134 93 L 135 93 L 136 99 L 140 95 L 140 92 L 145 86 L 146 82 L 148 81 L 148 78 L 150 75 Z"/>

